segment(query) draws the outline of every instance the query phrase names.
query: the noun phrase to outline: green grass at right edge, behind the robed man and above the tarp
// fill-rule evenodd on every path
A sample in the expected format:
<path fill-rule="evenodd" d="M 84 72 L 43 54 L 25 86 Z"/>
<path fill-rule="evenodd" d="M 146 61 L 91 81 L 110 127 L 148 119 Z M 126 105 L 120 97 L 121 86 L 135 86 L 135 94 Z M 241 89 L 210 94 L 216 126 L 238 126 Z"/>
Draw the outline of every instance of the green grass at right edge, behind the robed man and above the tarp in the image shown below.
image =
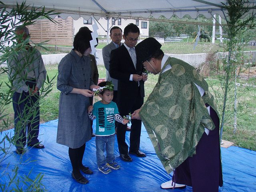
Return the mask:
<path fill-rule="evenodd" d="M 220 82 L 216 76 L 211 76 L 206 79 L 209 84 L 209 89 L 212 87 L 216 90 L 215 93 L 222 92 Z M 241 86 L 237 86 L 237 130 L 234 130 L 234 113 L 233 113 L 233 96 L 228 99 L 230 105 L 226 106 L 226 120 L 224 123 L 222 139 L 234 142 L 236 146 L 256 150 L 256 78 L 238 78 L 237 82 Z M 242 84 L 250 84 L 250 86 L 242 86 Z M 212 93 L 214 93 L 211 90 Z M 232 91 L 230 91 L 233 94 Z M 216 98 L 216 96 L 215 96 Z M 220 116 L 222 116 L 222 98 L 216 98 L 216 103 L 219 108 Z"/>

